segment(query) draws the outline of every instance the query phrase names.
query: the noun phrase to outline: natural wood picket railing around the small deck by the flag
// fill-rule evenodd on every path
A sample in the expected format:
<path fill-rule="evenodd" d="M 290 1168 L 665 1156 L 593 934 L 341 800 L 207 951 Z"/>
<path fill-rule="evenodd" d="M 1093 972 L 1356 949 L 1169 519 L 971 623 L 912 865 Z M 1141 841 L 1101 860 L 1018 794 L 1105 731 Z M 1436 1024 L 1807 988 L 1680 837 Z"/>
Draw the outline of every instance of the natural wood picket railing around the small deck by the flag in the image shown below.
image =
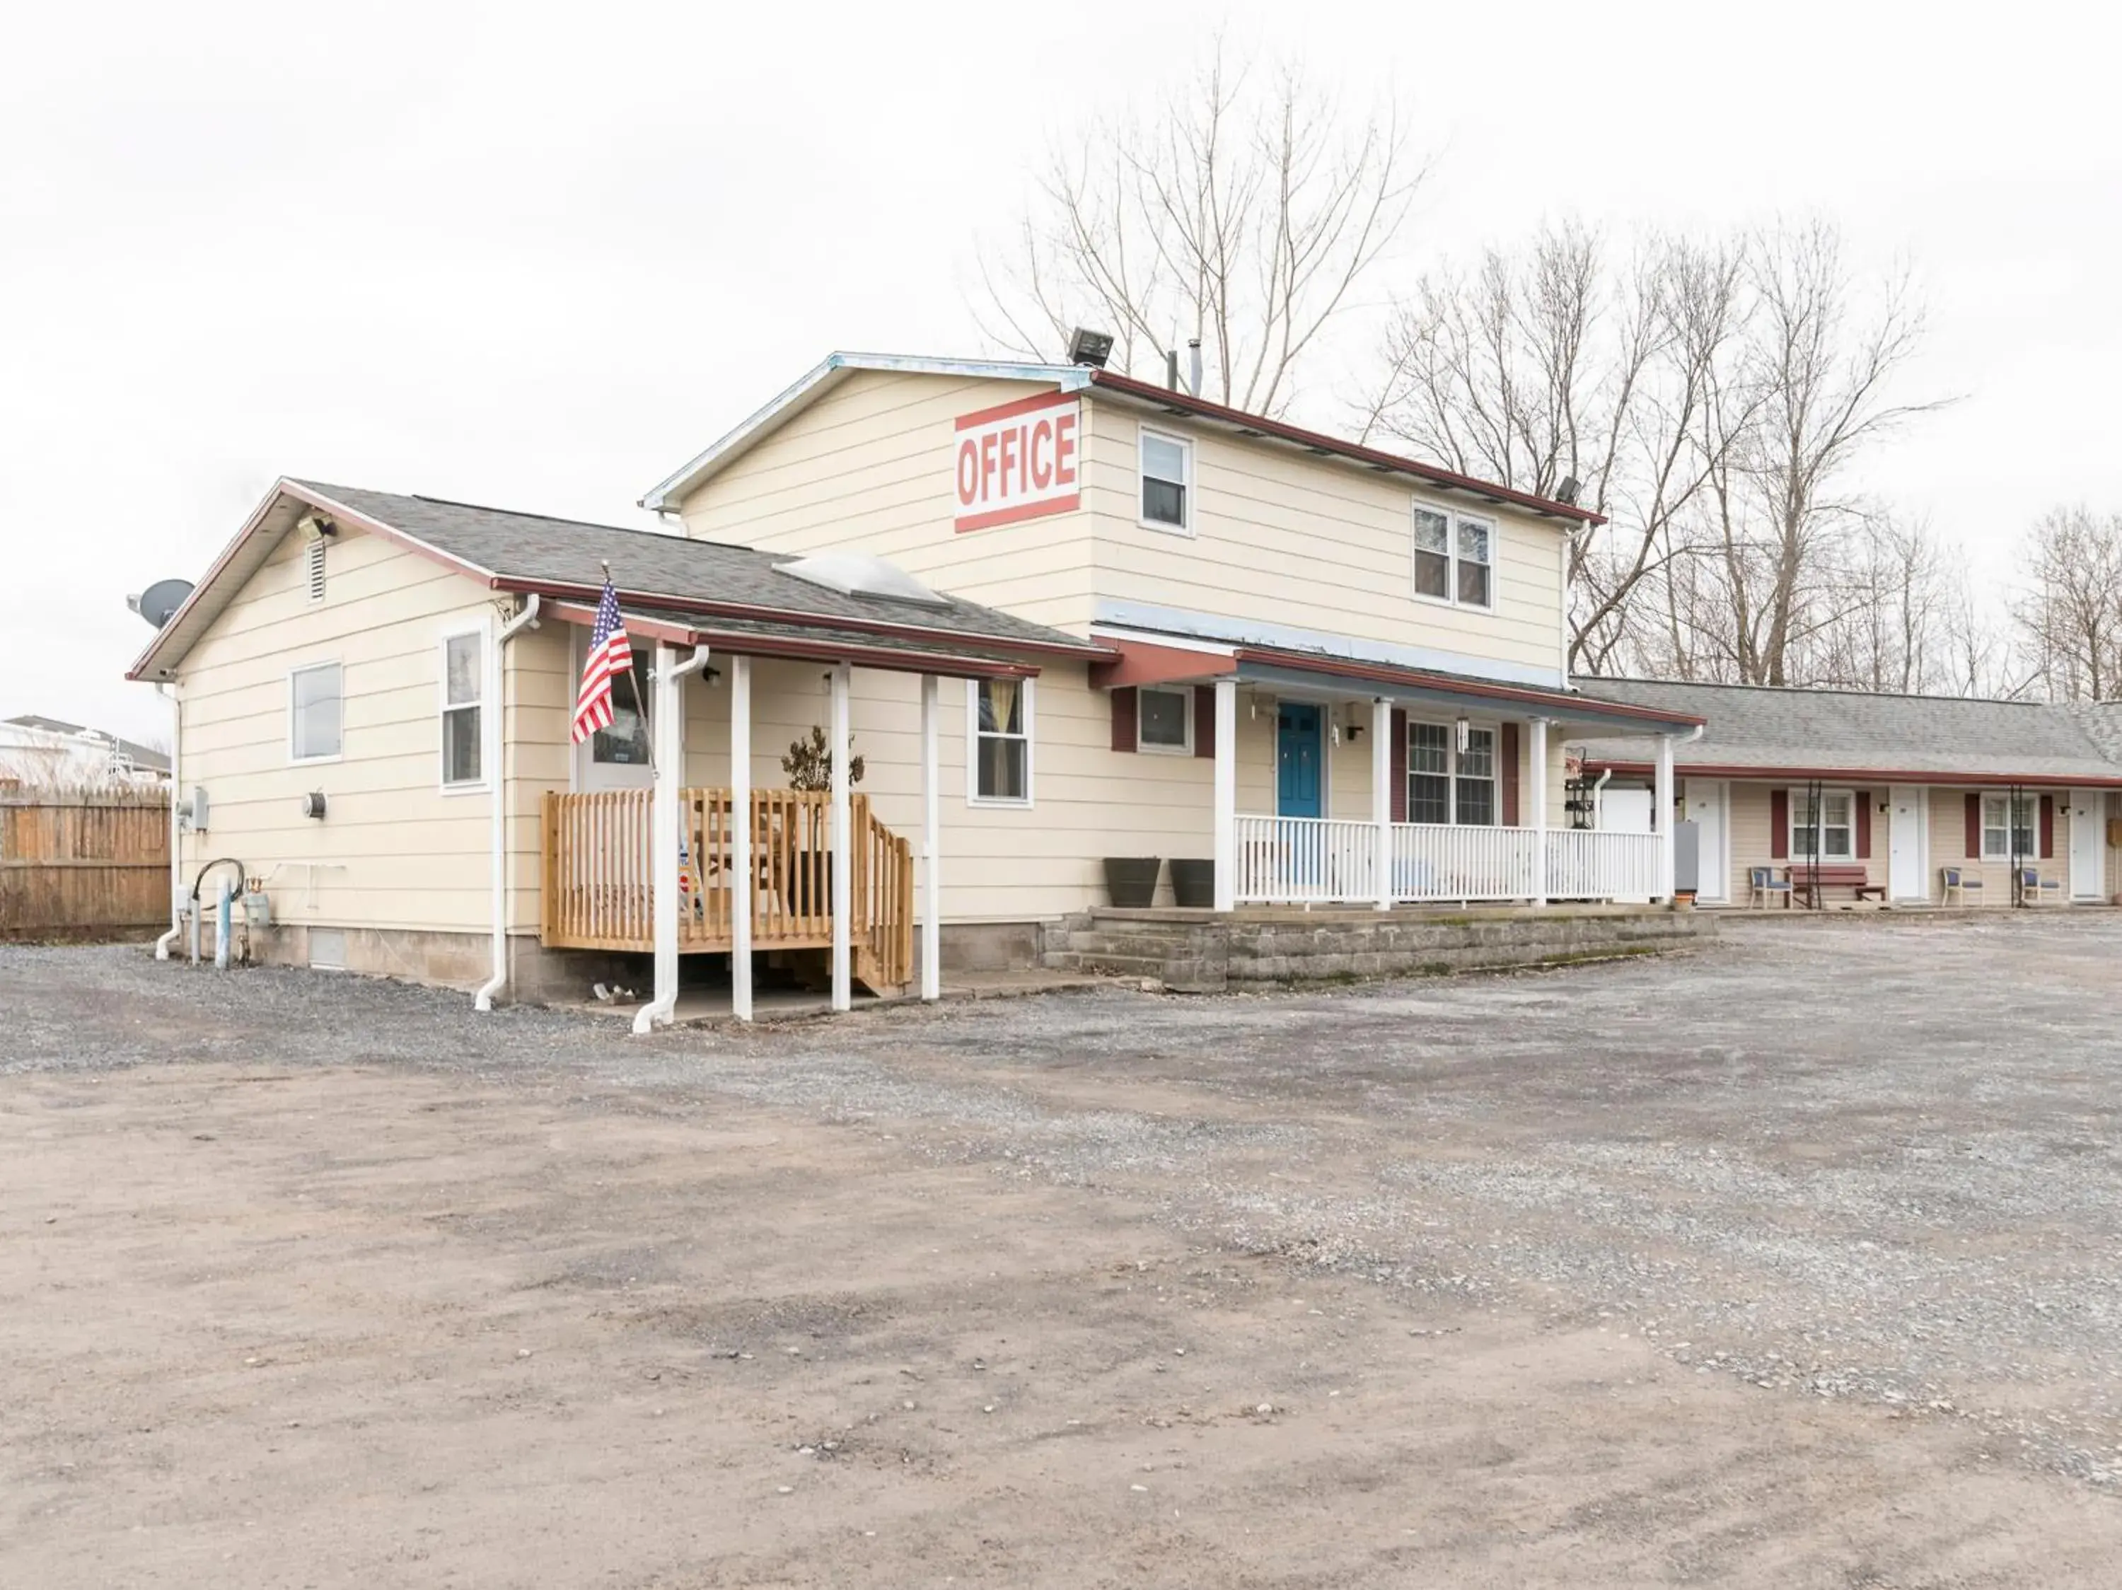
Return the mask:
<path fill-rule="evenodd" d="M 539 938 L 552 949 L 654 951 L 649 790 L 547 792 Z M 872 989 L 912 979 L 912 847 L 849 800 L 853 974 Z M 732 807 L 728 790 L 679 790 L 679 953 L 728 951 Z M 832 796 L 751 792 L 751 947 L 832 947 Z"/>

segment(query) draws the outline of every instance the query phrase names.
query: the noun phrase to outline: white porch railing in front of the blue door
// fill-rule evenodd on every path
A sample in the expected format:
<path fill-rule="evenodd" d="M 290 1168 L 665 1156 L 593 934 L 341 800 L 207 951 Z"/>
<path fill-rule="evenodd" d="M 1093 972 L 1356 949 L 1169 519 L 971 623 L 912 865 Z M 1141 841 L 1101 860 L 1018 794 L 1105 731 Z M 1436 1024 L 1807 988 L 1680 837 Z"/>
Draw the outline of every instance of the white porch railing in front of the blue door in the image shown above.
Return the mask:
<path fill-rule="evenodd" d="M 1649 900 L 1659 892 L 1659 836 L 1547 830 L 1545 887 L 1534 828 L 1392 824 L 1392 898 Z M 1237 900 L 1373 904 L 1377 828 L 1333 817 L 1237 817 Z"/>

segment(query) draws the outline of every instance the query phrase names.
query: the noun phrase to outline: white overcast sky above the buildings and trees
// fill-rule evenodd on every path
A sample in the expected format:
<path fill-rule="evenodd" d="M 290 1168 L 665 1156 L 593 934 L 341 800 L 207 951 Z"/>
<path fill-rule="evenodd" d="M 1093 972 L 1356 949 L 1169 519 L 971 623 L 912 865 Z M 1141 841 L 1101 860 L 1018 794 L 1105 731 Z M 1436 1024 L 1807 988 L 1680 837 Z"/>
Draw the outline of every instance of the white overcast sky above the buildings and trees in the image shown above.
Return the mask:
<path fill-rule="evenodd" d="M 8 23 L 0 715 L 163 732 L 123 597 L 197 577 L 280 473 L 634 522 L 832 348 L 980 350 L 974 248 L 1048 140 L 1207 42 L 1142 0 L 306 11 Z M 1865 484 L 2005 580 L 2041 505 L 2122 509 L 2122 38 L 2090 4 L 1867 11 L 1224 15 L 1411 106 L 1403 276 L 1562 214 L 1821 214 L 1912 261 L 1906 391 L 1965 401 Z"/>

